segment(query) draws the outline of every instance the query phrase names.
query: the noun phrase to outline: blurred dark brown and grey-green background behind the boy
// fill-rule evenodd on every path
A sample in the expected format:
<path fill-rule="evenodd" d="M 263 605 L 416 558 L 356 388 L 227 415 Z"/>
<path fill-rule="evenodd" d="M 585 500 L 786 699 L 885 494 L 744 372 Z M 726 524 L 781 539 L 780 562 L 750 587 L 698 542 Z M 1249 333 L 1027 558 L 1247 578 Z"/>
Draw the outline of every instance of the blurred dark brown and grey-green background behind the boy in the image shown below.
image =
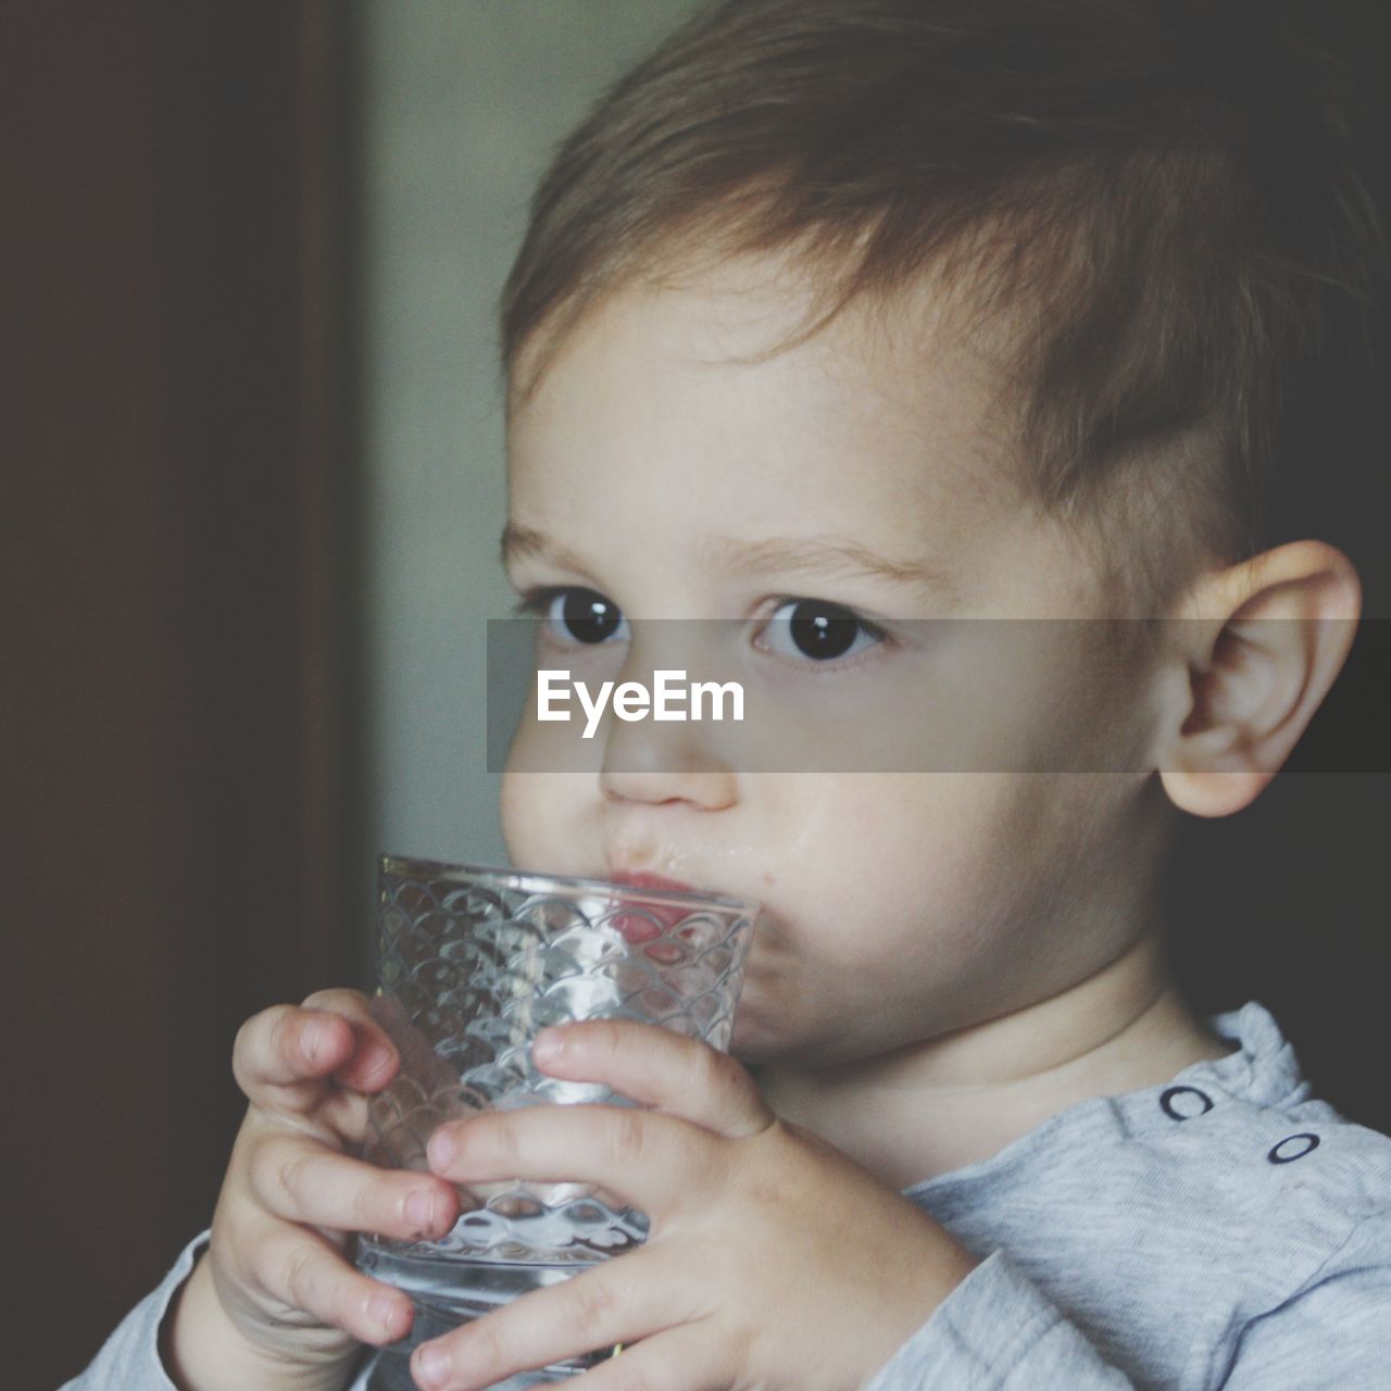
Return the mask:
<path fill-rule="evenodd" d="M 10 1384 L 206 1225 L 232 1036 L 364 979 L 376 851 L 505 858 L 492 306 L 554 143 L 691 8 L 0 0 Z M 1376 7 L 1324 13 L 1383 61 Z M 1377 424 L 1328 451 L 1359 480 Z M 1376 573 L 1384 508 L 1328 495 Z M 1195 825 L 1173 886 L 1196 999 L 1264 1000 L 1381 1128 L 1385 652 L 1309 762 L 1380 771 Z"/>

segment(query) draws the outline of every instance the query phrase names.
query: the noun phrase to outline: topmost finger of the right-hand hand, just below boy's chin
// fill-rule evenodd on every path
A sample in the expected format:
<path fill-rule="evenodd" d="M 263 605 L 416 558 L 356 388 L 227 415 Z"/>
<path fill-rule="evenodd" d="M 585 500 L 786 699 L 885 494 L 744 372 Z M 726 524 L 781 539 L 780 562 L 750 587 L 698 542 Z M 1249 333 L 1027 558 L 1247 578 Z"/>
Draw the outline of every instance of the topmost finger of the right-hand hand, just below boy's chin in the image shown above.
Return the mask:
<path fill-rule="evenodd" d="M 552 1077 L 605 1082 L 718 1135 L 743 1139 L 773 1123 L 758 1086 L 727 1053 L 670 1029 L 626 1020 L 588 1020 L 542 1029 L 531 1050 Z"/>

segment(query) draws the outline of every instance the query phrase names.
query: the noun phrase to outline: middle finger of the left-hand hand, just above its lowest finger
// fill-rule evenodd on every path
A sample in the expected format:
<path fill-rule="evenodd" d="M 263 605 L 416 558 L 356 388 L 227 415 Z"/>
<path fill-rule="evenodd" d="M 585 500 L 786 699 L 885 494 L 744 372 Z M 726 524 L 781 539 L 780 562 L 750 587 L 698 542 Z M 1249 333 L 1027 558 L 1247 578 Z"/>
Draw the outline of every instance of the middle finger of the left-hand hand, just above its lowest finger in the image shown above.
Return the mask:
<path fill-rule="evenodd" d="M 434 1241 L 459 1216 L 459 1195 L 442 1180 L 377 1168 L 298 1135 L 256 1146 L 250 1185 L 277 1217 L 331 1231 Z"/>

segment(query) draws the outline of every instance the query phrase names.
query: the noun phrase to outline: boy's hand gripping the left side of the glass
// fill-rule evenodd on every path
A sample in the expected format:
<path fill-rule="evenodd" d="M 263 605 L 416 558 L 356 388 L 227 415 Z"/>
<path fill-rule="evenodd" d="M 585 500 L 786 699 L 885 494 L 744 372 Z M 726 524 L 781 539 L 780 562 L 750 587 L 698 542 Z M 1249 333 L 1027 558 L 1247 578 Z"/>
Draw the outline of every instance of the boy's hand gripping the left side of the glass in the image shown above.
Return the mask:
<path fill-rule="evenodd" d="M 349 1232 L 434 1238 L 458 1217 L 458 1193 L 444 1180 L 345 1153 L 366 1131 L 367 1095 L 398 1067 L 352 990 L 277 1006 L 242 1027 L 232 1070 L 250 1106 L 211 1245 L 166 1340 L 185 1391 L 342 1385 L 360 1342 L 409 1331 L 409 1298 L 346 1256 Z"/>

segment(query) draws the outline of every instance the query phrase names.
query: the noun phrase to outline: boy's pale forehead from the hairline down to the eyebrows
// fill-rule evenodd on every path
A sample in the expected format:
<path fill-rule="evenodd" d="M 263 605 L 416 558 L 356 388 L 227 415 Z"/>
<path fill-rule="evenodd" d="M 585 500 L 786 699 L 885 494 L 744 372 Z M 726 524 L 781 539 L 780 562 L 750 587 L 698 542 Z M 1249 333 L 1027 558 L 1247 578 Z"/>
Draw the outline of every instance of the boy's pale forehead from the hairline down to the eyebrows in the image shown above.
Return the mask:
<path fill-rule="evenodd" d="M 793 337 L 812 302 L 804 285 L 741 273 L 633 282 L 590 306 L 512 413 L 516 558 L 573 541 L 591 563 L 566 570 L 593 574 L 601 552 L 616 573 L 652 551 L 689 573 L 718 552 L 732 577 L 753 542 L 778 540 L 790 579 L 797 552 L 829 562 L 836 545 L 849 574 L 858 547 L 861 577 L 879 559 L 915 570 L 919 594 L 1013 609 L 1040 587 L 1027 540 L 1029 558 L 1047 552 L 1042 587 L 1075 609 L 1091 568 L 1018 485 L 988 357 L 928 296 L 853 303 Z M 768 547 L 759 559 L 778 568 Z M 893 593 L 875 591 L 882 611 Z"/>

